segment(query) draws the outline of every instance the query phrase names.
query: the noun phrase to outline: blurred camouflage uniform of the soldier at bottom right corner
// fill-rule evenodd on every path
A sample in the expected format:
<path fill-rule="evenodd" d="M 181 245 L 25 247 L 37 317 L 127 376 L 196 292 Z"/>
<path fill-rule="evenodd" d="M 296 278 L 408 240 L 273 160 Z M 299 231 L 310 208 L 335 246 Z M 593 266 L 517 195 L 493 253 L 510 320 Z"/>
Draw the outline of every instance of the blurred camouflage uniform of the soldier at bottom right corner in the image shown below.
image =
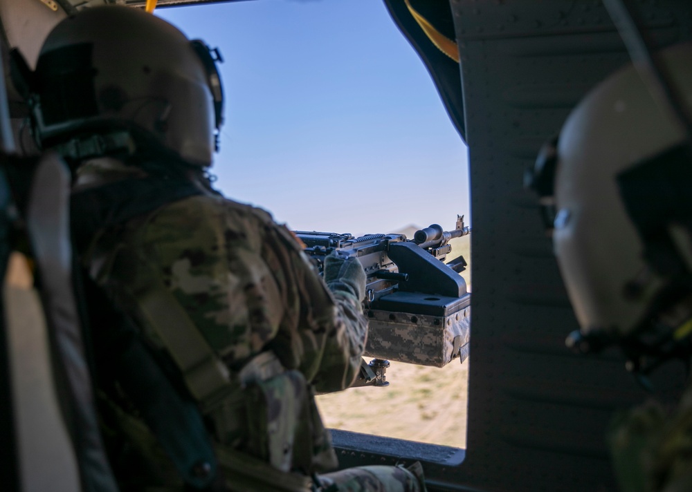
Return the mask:
<path fill-rule="evenodd" d="M 614 419 L 608 435 L 622 492 L 692 490 L 692 386 L 671 413 L 648 401 Z"/>

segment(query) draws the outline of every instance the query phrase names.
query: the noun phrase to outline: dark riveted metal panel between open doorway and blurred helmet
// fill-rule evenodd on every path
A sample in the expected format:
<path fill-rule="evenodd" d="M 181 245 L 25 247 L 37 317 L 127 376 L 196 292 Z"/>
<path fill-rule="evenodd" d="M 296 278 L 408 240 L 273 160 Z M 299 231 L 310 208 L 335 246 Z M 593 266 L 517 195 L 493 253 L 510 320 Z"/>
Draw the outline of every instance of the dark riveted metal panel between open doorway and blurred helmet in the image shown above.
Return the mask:
<path fill-rule="evenodd" d="M 471 167 L 473 309 L 466 460 L 439 480 L 487 491 L 614 490 L 605 429 L 616 408 L 646 394 L 617 352 L 567 352 L 578 325 L 522 173 L 628 56 L 600 1 L 451 5 Z M 659 46 L 691 37 L 689 1 L 638 7 Z M 673 399 L 682 368 L 666 368 L 655 384 Z"/>

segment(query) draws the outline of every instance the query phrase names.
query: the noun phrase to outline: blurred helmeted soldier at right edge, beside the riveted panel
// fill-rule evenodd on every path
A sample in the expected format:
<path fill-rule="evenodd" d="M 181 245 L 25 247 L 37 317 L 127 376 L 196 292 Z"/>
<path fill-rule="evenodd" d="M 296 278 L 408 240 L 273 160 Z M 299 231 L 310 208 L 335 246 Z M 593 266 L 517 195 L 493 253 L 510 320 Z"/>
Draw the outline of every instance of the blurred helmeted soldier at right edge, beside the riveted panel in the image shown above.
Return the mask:
<path fill-rule="evenodd" d="M 661 59 L 680 94 L 672 103 L 690 114 L 692 44 Z M 536 164 L 537 188 L 554 200 L 554 249 L 581 325 L 568 343 L 581 351 L 617 344 L 644 375 L 692 357 L 692 140 L 670 104 L 635 67 L 623 68 L 572 111 Z M 543 185 L 554 189 L 543 188 L 540 176 L 553 173 Z M 608 443 L 623 492 L 692 490 L 692 386 L 672 412 L 649 401 L 614 417 Z"/>

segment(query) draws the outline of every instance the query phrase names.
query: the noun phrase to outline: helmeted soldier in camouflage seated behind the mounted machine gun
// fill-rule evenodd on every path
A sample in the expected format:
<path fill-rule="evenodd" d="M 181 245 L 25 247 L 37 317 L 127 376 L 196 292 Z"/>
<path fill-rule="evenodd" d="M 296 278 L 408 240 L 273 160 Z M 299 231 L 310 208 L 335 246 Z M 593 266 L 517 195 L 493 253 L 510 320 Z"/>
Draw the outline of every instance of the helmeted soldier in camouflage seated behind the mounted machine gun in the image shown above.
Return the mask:
<path fill-rule="evenodd" d="M 223 104 L 214 55 L 143 11 L 93 8 L 48 35 L 27 84 L 39 142 L 75 171 L 75 243 L 106 294 L 95 358 L 100 379 L 113 372 L 100 413 L 120 484 L 190 486 L 188 465 L 176 472 L 188 450 L 165 443 L 199 409 L 221 473 L 194 464 L 198 489 L 425 490 L 417 463 L 318 475 L 338 463 L 313 395 L 343 390 L 358 373 L 365 274 L 332 255 L 323 281 L 285 227 L 211 189 L 205 169 Z M 127 359 L 136 350 L 120 349 L 131 332 L 103 334 L 118 316 L 194 401 L 176 425 L 161 424 L 170 419 L 152 396 L 161 385 L 133 386 L 114 369 L 138 370 Z M 125 355 L 109 363 L 116 352 Z M 193 437 L 203 447 L 206 437 Z"/>

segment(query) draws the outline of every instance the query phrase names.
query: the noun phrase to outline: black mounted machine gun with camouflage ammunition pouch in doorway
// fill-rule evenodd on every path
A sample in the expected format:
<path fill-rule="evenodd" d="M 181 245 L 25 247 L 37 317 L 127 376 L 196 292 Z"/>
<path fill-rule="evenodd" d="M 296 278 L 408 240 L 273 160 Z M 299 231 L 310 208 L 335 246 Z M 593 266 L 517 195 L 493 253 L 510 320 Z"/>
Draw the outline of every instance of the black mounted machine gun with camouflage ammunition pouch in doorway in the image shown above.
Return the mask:
<path fill-rule="evenodd" d="M 433 224 L 408 240 L 404 234 L 295 231 L 320 273 L 334 250 L 358 258 L 367 276 L 363 312 L 370 321 L 365 355 L 375 357 L 365 379 L 383 386 L 386 360 L 443 367 L 468 354 L 471 294 L 459 275 L 463 256 L 444 263 L 449 240 L 471 232 L 457 216 L 453 231 Z M 367 368 L 363 368 L 367 372 Z"/>

